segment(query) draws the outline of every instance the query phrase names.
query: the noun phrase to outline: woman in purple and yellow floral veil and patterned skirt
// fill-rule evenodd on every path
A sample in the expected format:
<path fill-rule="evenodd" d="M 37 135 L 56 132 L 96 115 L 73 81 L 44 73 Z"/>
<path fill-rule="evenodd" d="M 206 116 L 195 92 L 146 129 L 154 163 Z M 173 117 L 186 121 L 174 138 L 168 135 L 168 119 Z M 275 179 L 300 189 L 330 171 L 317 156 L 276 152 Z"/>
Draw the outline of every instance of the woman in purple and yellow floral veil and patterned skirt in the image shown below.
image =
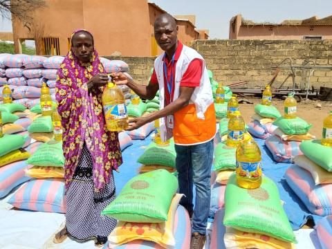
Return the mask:
<path fill-rule="evenodd" d="M 106 128 L 101 87 L 108 77 L 94 49 L 93 36 L 77 30 L 71 50 L 57 71 L 56 100 L 64 127 L 66 226 L 55 235 L 61 243 L 107 242 L 116 220 L 100 212 L 116 198 L 113 169 L 122 156 L 118 133 Z"/>

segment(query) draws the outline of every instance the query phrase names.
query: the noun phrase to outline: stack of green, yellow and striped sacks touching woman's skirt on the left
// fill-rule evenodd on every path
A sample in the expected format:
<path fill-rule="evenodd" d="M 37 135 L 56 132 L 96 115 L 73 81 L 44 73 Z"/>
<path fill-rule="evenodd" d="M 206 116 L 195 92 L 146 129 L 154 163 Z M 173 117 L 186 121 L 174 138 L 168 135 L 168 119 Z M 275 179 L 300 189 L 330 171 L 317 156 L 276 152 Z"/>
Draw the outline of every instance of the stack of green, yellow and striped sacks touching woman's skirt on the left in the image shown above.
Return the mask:
<path fill-rule="evenodd" d="M 37 151 L 26 163 L 26 176 L 33 179 L 22 185 L 8 203 L 22 210 L 66 212 L 62 142 L 38 142 Z"/>

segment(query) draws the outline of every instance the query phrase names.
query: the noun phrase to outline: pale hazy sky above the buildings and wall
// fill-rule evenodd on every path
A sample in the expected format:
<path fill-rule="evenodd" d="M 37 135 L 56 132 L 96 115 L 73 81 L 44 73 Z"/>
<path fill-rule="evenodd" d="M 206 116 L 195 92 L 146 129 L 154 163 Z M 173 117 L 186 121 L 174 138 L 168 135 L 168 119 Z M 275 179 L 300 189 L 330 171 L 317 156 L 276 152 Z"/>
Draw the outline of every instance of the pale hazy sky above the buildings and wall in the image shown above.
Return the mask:
<path fill-rule="evenodd" d="M 252 21 L 275 23 L 284 19 L 306 19 L 314 15 L 322 18 L 332 15 L 332 0 L 154 0 L 150 2 L 156 3 L 171 15 L 196 15 L 196 28 L 209 29 L 210 39 L 227 39 L 229 21 L 237 14 Z M 0 17 L 0 31 L 12 31 L 10 21 Z"/>

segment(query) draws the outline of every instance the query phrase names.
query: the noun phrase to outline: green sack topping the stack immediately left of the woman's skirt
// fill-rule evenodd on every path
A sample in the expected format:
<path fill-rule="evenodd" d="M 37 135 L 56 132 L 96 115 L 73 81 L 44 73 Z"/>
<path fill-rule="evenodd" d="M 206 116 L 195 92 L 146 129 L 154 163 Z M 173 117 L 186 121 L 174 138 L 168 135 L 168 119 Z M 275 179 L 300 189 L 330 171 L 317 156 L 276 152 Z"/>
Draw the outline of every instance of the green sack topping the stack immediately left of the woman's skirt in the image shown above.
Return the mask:
<path fill-rule="evenodd" d="M 62 142 L 50 140 L 40 145 L 37 151 L 26 161 L 29 165 L 64 167 Z"/>

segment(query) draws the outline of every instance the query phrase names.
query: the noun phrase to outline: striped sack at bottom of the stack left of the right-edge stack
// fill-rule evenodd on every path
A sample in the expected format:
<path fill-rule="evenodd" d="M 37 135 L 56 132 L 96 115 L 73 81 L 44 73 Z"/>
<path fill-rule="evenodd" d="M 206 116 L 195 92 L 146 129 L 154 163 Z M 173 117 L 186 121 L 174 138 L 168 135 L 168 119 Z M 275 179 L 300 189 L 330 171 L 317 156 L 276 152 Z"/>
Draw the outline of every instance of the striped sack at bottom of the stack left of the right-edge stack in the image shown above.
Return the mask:
<path fill-rule="evenodd" d="M 303 155 L 299 149 L 300 144 L 301 142 L 298 141 L 283 141 L 282 138 L 274 135 L 265 140 L 266 147 L 278 163 L 292 163 L 295 156 Z"/>

